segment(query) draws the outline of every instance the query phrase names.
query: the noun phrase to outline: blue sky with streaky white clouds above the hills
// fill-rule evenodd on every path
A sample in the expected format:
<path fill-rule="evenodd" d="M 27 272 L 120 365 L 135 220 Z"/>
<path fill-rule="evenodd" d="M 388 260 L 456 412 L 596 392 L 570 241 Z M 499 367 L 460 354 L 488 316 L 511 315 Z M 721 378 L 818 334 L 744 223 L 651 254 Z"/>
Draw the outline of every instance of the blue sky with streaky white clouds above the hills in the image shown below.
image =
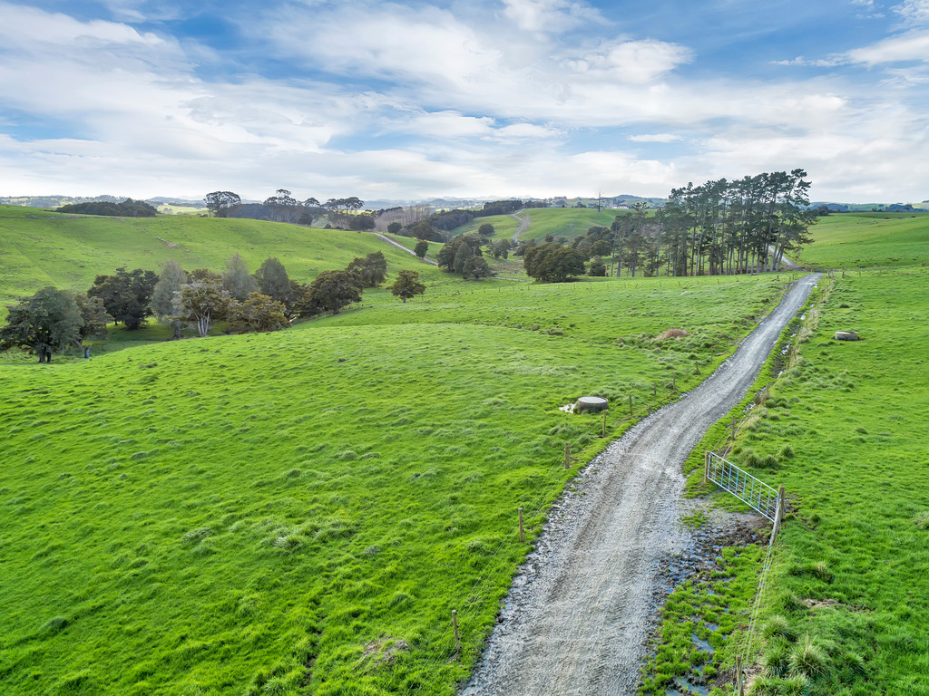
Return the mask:
<path fill-rule="evenodd" d="M 0 0 L 0 196 L 929 200 L 929 0 Z"/>

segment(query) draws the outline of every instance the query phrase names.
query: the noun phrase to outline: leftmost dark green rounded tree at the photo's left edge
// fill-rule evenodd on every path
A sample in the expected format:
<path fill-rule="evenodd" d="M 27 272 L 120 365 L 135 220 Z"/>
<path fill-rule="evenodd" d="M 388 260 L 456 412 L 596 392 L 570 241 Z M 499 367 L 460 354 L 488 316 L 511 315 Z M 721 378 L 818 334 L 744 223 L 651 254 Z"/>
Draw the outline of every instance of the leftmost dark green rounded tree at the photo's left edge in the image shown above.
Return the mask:
<path fill-rule="evenodd" d="M 40 363 L 52 353 L 80 341 L 84 320 L 67 290 L 43 288 L 17 304 L 7 304 L 7 326 L 0 329 L 0 350 L 31 348 Z"/>

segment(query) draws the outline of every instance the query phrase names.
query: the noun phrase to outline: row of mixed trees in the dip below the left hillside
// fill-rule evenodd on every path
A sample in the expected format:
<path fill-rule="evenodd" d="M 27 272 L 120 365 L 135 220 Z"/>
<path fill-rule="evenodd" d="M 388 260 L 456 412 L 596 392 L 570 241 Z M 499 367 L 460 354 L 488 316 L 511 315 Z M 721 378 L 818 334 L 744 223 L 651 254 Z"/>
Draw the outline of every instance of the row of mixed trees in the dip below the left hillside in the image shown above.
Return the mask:
<path fill-rule="evenodd" d="M 227 322 L 228 333 L 289 328 L 295 319 L 338 314 L 358 303 L 362 292 L 382 284 L 387 262 L 381 251 L 355 258 L 346 268 L 323 271 L 309 283 L 288 276 L 284 265 L 269 257 L 255 271 L 238 253 L 222 273 L 198 268 L 184 271 L 168 259 L 160 274 L 121 267 L 99 275 L 86 293 L 48 287 L 19 303 L 7 305 L 7 326 L 0 329 L 0 350 L 23 347 L 51 362 L 53 353 L 85 340 L 105 338 L 109 322 L 126 329 L 141 328 L 150 316 L 181 338 L 185 327 L 206 336 L 216 321 Z M 390 287 L 403 303 L 425 292 L 415 271 L 400 271 Z"/>

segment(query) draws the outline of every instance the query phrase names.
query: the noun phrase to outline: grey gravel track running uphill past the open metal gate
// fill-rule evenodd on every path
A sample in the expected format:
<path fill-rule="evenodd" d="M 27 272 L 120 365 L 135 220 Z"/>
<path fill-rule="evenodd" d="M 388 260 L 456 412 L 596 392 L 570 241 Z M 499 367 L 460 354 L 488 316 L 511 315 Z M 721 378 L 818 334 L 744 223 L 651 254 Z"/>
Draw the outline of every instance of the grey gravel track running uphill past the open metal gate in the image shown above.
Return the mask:
<path fill-rule="evenodd" d="M 818 275 L 712 376 L 609 445 L 559 500 L 463 696 L 634 694 L 662 566 L 685 548 L 681 465 L 752 385 Z"/>

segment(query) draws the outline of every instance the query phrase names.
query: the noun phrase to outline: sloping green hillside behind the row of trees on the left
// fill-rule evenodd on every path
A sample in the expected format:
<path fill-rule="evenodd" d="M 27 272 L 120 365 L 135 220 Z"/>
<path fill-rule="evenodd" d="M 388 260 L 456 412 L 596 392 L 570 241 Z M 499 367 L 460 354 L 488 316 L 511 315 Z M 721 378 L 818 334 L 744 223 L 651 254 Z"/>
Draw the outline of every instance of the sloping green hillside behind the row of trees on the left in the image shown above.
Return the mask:
<path fill-rule="evenodd" d="M 367 232 L 188 215 L 62 215 L 4 205 L 0 206 L 0 305 L 46 285 L 85 292 L 94 277 L 122 265 L 157 272 L 168 258 L 187 270 L 221 271 L 229 256 L 239 252 L 255 271 L 268 256 L 277 256 L 290 277 L 307 282 L 371 251 L 383 251 L 392 268 L 416 267 L 425 275 L 438 274 Z M 6 307 L 0 312 L 6 315 Z"/>

